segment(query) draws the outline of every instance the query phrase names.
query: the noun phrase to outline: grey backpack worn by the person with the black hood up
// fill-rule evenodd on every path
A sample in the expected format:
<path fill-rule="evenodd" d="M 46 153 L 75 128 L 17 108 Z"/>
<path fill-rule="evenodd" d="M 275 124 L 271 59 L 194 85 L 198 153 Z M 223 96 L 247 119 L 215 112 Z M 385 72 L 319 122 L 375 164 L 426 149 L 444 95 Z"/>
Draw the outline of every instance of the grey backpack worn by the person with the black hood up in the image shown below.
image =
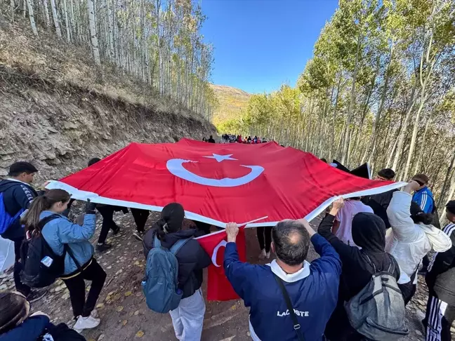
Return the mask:
<path fill-rule="evenodd" d="M 404 326 L 404 300 L 395 277 L 395 263 L 392 261 L 386 272 L 376 272 L 360 293 L 345 302 L 345 310 L 351 326 L 357 332 L 377 341 L 393 341 L 409 334 Z"/>

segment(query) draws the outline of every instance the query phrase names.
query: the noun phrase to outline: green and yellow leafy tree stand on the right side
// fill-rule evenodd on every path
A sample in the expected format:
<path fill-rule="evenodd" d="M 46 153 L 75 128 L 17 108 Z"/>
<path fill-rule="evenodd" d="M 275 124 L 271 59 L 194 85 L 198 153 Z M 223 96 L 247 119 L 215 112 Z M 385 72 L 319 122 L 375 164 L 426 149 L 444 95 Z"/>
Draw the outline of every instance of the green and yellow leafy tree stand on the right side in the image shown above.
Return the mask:
<path fill-rule="evenodd" d="M 296 88 L 254 95 L 230 132 L 455 194 L 455 1 L 340 0 Z"/>

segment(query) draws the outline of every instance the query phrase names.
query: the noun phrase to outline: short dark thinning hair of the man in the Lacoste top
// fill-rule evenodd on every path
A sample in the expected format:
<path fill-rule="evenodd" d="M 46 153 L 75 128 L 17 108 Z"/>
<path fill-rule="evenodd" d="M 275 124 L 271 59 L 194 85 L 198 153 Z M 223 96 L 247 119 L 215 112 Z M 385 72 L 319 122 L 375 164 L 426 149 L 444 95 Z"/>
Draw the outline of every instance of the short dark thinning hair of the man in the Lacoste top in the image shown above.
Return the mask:
<path fill-rule="evenodd" d="M 284 220 L 272 228 L 277 258 L 287 265 L 302 264 L 308 255 L 310 234 L 295 220 Z"/>

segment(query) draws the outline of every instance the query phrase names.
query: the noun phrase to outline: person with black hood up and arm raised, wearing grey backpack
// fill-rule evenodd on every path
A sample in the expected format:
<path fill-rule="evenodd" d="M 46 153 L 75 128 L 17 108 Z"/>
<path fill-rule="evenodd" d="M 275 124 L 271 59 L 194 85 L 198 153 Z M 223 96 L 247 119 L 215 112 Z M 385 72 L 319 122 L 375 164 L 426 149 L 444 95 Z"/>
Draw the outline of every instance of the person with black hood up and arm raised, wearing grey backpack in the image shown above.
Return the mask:
<path fill-rule="evenodd" d="M 371 281 L 376 271 L 388 271 L 400 278 L 400 267 L 392 255 L 385 253 L 385 225 L 381 218 L 373 213 L 357 213 L 352 220 L 352 240 L 357 246 L 348 246 L 331 232 L 336 213 L 344 206 L 342 198 L 334 202 L 317 232 L 335 248 L 343 263 L 338 293 L 338 304 L 331 315 L 325 335 L 329 340 L 363 340 L 364 336 L 350 326 L 344 309 L 344 302 L 360 293 L 360 290 Z M 370 262 L 371 261 L 371 262 Z M 371 265 L 371 263 L 374 264 Z"/>

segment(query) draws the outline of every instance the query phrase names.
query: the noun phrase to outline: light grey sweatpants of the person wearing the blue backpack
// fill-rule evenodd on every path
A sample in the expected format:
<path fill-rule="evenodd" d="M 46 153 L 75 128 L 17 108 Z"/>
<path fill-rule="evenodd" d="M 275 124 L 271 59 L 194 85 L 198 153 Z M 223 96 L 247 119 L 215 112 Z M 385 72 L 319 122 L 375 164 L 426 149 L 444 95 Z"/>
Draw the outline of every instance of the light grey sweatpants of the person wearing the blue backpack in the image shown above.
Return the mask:
<path fill-rule="evenodd" d="M 180 301 L 177 309 L 169 312 L 176 337 L 180 341 L 200 341 L 204 323 L 205 302 L 201 289 Z"/>

